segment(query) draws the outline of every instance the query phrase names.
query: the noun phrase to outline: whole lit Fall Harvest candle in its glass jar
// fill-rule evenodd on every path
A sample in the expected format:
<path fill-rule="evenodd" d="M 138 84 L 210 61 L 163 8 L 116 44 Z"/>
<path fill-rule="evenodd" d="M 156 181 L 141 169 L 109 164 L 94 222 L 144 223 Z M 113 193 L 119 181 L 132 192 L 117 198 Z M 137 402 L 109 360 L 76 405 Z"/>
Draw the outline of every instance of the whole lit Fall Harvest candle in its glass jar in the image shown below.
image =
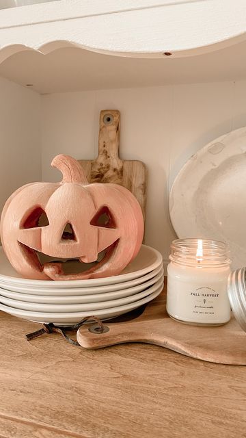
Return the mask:
<path fill-rule="evenodd" d="M 210 326 L 228 322 L 228 246 L 215 240 L 174 240 L 169 259 L 169 316 L 180 322 L 195 325 Z"/>

